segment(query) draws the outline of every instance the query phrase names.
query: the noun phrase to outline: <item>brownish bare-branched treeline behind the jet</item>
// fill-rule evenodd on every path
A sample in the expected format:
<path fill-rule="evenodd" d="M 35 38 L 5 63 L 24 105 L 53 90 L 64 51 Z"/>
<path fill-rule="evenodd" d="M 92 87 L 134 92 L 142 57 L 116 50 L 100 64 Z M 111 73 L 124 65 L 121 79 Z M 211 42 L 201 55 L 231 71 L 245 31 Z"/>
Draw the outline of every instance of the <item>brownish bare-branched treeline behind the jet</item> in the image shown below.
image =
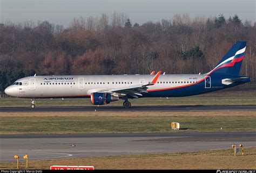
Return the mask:
<path fill-rule="evenodd" d="M 48 21 L 0 24 L 0 91 L 34 75 L 197 74 L 210 71 L 235 41 L 247 41 L 241 74 L 255 83 L 256 24 L 175 15 L 139 25 L 124 13 L 73 19 L 69 27 Z"/>

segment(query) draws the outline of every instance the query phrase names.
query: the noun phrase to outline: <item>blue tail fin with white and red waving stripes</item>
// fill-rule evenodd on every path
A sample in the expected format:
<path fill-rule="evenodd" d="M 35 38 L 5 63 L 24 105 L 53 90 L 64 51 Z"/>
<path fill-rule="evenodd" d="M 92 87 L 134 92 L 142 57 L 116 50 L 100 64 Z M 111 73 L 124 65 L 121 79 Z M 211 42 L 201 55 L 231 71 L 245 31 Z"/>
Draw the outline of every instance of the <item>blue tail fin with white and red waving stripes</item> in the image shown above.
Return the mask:
<path fill-rule="evenodd" d="M 246 41 L 238 41 L 226 53 L 217 66 L 207 73 L 208 75 L 236 75 L 241 69 L 242 59 L 244 58 Z"/>

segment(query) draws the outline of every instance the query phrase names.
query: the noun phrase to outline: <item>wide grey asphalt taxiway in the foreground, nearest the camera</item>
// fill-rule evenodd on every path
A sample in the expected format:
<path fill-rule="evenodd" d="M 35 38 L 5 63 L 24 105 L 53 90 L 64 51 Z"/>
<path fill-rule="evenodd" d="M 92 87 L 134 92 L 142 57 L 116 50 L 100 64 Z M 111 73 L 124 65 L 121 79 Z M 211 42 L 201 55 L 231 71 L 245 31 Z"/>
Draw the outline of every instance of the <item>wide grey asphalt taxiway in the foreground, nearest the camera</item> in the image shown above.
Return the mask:
<path fill-rule="evenodd" d="M 0 135 L 0 162 L 125 154 L 192 152 L 256 146 L 256 132 Z"/>

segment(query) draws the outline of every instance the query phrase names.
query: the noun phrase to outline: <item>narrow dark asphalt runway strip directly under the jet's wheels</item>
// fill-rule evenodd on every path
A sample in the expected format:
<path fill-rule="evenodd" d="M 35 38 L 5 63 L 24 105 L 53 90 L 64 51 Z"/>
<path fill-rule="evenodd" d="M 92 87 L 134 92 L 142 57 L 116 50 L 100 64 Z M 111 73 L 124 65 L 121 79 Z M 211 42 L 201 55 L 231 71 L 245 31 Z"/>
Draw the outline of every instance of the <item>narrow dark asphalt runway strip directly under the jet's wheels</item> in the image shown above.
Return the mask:
<path fill-rule="evenodd" d="M 256 105 L 184 105 L 184 106 L 85 106 L 85 107 L 0 107 L 0 112 L 59 112 L 59 111 L 224 111 L 224 110 L 251 110 L 256 111 Z"/>

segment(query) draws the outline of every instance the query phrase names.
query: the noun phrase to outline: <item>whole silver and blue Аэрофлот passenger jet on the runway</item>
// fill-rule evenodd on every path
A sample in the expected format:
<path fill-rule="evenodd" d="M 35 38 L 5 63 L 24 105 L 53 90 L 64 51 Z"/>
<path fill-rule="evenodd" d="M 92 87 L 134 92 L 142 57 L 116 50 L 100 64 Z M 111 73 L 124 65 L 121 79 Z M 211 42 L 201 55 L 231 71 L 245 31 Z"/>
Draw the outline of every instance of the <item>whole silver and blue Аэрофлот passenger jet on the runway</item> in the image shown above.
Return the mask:
<path fill-rule="evenodd" d="M 129 98 L 183 97 L 217 91 L 250 82 L 240 76 L 245 41 L 235 42 L 217 66 L 206 74 L 185 75 L 70 75 L 30 76 L 15 81 L 5 89 L 9 96 L 31 98 L 91 98 L 93 105 L 104 105 L 118 99 L 131 107 Z"/>

